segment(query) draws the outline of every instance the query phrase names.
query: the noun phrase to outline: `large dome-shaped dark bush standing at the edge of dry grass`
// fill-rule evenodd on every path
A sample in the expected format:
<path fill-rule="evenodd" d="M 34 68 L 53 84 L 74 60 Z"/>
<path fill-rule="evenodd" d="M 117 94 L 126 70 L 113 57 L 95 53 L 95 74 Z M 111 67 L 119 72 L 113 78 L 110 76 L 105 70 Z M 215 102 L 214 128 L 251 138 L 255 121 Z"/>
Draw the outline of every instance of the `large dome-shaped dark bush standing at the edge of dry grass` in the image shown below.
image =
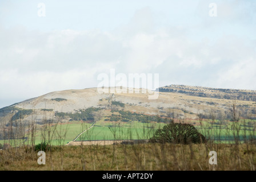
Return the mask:
<path fill-rule="evenodd" d="M 191 124 L 169 123 L 158 129 L 150 142 L 158 143 L 205 143 L 206 138 Z"/>

